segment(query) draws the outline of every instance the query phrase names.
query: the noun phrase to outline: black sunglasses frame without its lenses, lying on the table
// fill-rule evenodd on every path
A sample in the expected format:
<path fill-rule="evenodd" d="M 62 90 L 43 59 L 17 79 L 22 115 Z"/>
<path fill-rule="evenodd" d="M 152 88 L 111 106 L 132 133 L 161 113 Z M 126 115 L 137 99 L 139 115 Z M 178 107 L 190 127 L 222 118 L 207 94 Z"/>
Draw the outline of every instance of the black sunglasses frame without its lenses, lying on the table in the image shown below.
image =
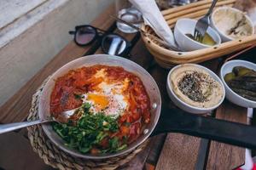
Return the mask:
<path fill-rule="evenodd" d="M 93 37 L 93 38 L 90 40 L 90 42 L 81 44 L 81 43 L 79 43 L 79 42 L 77 41 L 77 39 L 76 39 L 76 34 L 77 34 L 77 31 L 79 31 L 79 29 L 84 28 L 84 27 L 90 27 L 91 29 L 93 29 L 93 30 L 96 32 L 96 35 L 95 35 L 95 37 Z M 102 48 L 102 51 L 103 51 L 105 54 L 108 54 L 108 51 L 104 48 L 103 42 L 104 42 L 104 39 L 105 39 L 106 37 L 111 36 L 111 35 L 112 35 L 112 36 L 117 36 L 117 37 L 121 38 L 121 39 L 122 39 L 123 41 L 125 41 L 125 43 L 126 43 L 126 47 L 125 47 L 124 51 L 121 52 L 120 54 L 117 54 L 117 55 L 124 56 L 124 55 L 126 55 L 126 54 L 129 53 L 129 49 L 131 48 L 131 42 L 127 41 L 127 40 L 125 39 L 125 37 L 122 37 L 122 36 L 120 36 L 119 34 L 116 34 L 116 33 L 108 33 L 108 31 L 104 31 L 104 30 L 102 30 L 102 29 L 96 28 L 95 26 L 90 26 L 90 25 L 75 26 L 75 31 L 69 31 L 69 34 L 74 35 L 73 41 L 74 41 L 77 45 L 82 46 L 82 47 L 85 47 L 85 46 L 87 46 L 87 45 L 90 45 L 92 42 L 95 42 L 97 38 L 100 38 L 100 40 L 101 40 L 101 48 Z"/>

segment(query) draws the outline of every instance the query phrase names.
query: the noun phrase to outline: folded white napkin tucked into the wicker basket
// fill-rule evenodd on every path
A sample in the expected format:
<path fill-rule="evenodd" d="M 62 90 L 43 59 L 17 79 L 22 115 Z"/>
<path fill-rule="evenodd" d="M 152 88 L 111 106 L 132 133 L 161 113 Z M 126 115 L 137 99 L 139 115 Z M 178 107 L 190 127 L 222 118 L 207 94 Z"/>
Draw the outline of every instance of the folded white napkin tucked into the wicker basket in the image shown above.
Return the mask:
<path fill-rule="evenodd" d="M 142 14 L 146 25 L 170 46 L 177 47 L 171 28 L 166 23 L 154 0 L 129 0 Z"/>

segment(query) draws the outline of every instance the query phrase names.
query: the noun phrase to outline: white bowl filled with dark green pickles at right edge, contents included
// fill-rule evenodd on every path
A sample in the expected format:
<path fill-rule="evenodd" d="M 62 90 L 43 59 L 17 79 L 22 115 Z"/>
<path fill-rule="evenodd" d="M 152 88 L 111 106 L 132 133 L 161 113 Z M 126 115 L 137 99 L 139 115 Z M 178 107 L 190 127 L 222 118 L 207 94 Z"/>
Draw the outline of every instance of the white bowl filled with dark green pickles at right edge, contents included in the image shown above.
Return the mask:
<path fill-rule="evenodd" d="M 242 107 L 256 108 L 256 65 L 241 59 L 222 65 L 220 78 L 226 98 Z"/>

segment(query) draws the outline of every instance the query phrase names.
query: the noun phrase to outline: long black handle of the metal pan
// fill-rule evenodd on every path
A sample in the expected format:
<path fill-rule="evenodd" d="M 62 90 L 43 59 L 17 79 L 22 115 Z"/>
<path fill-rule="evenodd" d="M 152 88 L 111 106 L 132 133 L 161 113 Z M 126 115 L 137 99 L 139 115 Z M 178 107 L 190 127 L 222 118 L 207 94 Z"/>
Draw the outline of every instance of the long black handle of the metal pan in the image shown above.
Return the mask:
<path fill-rule="evenodd" d="M 160 120 L 151 136 L 171 132 L 256 149 L 256 127 L 162 108 Z"/>

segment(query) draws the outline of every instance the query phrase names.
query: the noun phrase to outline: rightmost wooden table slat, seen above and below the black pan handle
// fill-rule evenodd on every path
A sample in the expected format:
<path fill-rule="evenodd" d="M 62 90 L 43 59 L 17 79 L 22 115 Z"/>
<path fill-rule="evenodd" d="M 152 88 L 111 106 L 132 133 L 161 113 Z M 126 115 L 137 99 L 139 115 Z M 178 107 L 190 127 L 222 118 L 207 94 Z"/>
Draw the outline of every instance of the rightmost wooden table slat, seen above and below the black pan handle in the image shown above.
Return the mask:
<path fill-rule="evenodd" d="M 216 118 L 247 124 L 247 108 L 224 102 L 216 111 Z M 234 169 L 244 164 L 245 149 L 230 144 L 212 141 L 209 149 L 207 169 Z"/>

